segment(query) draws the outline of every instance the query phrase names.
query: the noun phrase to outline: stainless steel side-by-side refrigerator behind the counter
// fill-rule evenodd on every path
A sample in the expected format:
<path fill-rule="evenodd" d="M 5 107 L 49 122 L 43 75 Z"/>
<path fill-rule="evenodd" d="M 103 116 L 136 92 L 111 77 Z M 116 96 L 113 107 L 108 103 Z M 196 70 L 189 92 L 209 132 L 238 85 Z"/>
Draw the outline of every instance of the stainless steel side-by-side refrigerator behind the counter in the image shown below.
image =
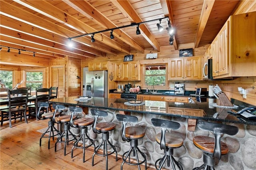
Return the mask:
<path fill-rule="evenodd" d="M 86 71 L 85 94 L 90 97 L 108 97 L 108 71 Z"/>

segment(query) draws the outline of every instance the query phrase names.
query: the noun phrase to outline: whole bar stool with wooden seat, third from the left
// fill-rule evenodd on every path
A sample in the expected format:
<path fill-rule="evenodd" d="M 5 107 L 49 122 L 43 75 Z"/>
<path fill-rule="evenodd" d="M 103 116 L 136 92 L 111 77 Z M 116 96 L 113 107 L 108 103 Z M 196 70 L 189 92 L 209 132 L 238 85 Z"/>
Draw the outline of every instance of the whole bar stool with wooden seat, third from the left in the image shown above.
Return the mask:
<path fill-rule="evenodd" d="M 73 158 L 74 148 L 81 148 L 81 149 L 83 149 L 83 162 L 85 162 L 85 149 L 92 146 L 92 145 L 95 148 L 94 140 L 92 140 L 87 134 L 88 126 L 93 124 L 94 119 L 92 119 L 92 118 L 80 118 L 80 119 L 76 119 L 76 120 L 73 121 L 74 115 L 77 116 L 78 113 L 82 113 L 83 109 L 81 107 L 75 107 L 75 106 L 70 106 L 68 108 L 72 112 L 71 119 L 70 119 L 70 126 L 74 127 L 74 128 L 81 127 L 81 136 L 78 138 L 78 140 L 74 143 L 74 146 L 72 147 L 71 158 Z M 91 144 L 88 144 L 86 146 L 85 143 L 86 143 L 87 139 L 90 140 Z M 81 140 L 83 142 L 83 146 L 78 146 L 78 142 L 81 141 Z"/>

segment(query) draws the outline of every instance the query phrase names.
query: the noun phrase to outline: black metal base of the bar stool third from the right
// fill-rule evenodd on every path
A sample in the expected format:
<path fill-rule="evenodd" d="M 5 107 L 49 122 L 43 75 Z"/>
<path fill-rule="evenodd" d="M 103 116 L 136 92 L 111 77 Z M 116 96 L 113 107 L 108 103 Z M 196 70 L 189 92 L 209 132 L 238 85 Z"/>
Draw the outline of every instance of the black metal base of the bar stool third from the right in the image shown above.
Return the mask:
<path fill-rule="evenodd" d="M 141 154 L 141 156 L 144 158 L 141 162 L 139 161 L 137 152 L 139 152 Z M 131 154 L 133 154 L 133 157 L 136 157 L 137 163 L 131 163 L 131 161 L 130 161 Z M 127 158 L 128 158 L 128 161 L 127 161 Z M 124 152 L 123 162 L 121 164 L 121 170 L 123 169 L 124 162 L 128 165 L 138 165 L 139 170 L 140 170 L 140 164 L 143 164 L 145 162 L 145 170 L 147 169 L 146 155 L 143 152 L 141 152 L 137 146 L 134 146 L 134 147 L 131 146 L 129 151 Z"/>

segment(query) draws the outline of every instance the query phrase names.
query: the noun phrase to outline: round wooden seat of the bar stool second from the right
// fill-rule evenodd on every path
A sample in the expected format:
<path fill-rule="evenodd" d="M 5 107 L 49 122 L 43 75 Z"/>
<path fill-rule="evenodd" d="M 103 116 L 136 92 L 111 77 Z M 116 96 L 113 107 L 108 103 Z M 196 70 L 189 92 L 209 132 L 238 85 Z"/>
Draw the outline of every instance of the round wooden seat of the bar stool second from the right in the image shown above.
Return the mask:
<path fill-rule="evenodd" d="M 156 142 L 160 144 L 161 142 L 161 133 L 158 133 L 156 135 Z M 183 139 L 179 135 L 176 134 L 171 134 L 169 132 L 166 132 L 165 134 L 165 146 L 170 147 L 170 148 L 178 148 L 182 146 L 183 144 Z"/>

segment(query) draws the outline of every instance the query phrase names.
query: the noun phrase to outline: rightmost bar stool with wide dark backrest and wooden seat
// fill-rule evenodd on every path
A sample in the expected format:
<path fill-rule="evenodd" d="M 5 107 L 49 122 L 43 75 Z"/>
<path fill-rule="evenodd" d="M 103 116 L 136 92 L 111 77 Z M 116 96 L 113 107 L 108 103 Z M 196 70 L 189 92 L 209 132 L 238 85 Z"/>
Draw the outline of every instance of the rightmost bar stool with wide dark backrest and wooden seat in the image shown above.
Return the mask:
<path fill-rule="evenodd" d="M 238 132 L 238 127 L 204 121 L 198 122 L 197 127 L 212 131 L 214 138 L 209 136 L 195 136 L 193 138 L 194 145 L 202 150 L 204 154 L 204 164 L 193 170 L 214 170 L 215 159 L 220 160 L 221 155 L 228 153 L 228 146 L 220 141 L 222 134 L 235 135 Z"/>

